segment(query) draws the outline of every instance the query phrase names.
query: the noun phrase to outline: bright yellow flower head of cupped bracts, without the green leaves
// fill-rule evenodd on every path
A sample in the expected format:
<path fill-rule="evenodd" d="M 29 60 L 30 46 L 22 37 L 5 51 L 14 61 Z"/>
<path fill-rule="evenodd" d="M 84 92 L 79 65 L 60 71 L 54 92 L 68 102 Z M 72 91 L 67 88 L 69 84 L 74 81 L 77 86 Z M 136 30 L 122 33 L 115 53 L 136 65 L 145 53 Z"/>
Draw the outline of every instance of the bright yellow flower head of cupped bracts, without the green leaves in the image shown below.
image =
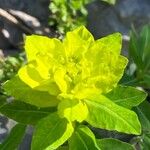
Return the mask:
<path fill-rule="evenodd" d="M 60 100 L 60 116 L 80 122 L 88 114 L 82 100 L 111 91 L 122 77 L 127 59 L 120 55 L 120 49 L 120 33 L 95 41 L 84 26 L 68 32 L 62 42 L 56 38 L 27 36 L 28 63 L 18 75 L 34 90 L 56 96 Z M 70 116 L 72 109 L 74 115 Z M 83 111 L 80 117 L 79 110 Z"/>

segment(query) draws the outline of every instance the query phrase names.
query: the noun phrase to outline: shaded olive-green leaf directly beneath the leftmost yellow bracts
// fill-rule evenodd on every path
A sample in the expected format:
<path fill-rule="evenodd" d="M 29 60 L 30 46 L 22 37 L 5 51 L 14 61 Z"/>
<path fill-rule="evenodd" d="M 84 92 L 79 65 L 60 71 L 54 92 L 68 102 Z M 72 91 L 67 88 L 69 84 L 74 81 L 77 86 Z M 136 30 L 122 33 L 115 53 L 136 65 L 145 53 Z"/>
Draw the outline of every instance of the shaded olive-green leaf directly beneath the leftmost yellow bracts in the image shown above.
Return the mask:
<path fill-rule="evenodd" d="M 17 100 L 24 101 L 31 105 L 49 107 L 58 104 L 58 100 L 55 96 L 50 95 L 48 92 L 33 90 L 22 82 L 18 76 L 7 81 L 3 85 L 3 88 L 9 95 L 14 96 Z"/>

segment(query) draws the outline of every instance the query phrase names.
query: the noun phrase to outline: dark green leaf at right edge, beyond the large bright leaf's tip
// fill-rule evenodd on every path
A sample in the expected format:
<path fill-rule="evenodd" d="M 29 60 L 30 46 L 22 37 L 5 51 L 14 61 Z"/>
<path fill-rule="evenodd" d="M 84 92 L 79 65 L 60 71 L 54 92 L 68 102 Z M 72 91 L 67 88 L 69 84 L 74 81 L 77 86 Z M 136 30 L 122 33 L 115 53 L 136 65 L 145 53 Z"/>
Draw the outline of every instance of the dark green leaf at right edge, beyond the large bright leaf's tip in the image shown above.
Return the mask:
<path fill-rule="evenodd" d="M 144 132 L 150 132 L 150 103 L 144 101 L 138 107 L 134 108 L 142 125 Z"/>

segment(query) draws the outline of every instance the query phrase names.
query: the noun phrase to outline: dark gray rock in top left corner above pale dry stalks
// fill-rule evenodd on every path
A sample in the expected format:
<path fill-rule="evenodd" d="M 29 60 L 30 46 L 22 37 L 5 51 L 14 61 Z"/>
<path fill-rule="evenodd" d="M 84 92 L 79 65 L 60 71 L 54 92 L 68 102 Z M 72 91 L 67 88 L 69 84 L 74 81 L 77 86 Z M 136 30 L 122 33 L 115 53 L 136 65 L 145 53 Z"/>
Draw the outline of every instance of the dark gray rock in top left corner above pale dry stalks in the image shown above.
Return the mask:
<path fill-rule="evenodd" d="M 50 0 L 0 0 L 0 8 L 20 10 L 47 24 Z"/>

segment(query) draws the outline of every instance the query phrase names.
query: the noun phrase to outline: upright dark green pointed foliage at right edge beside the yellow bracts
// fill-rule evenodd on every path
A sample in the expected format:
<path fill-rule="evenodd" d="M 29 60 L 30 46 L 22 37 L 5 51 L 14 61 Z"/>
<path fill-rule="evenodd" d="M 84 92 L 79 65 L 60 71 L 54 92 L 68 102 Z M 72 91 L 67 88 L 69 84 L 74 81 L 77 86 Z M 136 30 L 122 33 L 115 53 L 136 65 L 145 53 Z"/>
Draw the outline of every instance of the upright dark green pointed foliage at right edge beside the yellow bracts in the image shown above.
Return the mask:
<path fill-rule="evenodd" d="M 130 34 L 127 84 L 150 87 L 150 26 L 146 25 L 138 33 L 134 28 Z"/>

